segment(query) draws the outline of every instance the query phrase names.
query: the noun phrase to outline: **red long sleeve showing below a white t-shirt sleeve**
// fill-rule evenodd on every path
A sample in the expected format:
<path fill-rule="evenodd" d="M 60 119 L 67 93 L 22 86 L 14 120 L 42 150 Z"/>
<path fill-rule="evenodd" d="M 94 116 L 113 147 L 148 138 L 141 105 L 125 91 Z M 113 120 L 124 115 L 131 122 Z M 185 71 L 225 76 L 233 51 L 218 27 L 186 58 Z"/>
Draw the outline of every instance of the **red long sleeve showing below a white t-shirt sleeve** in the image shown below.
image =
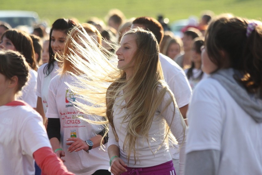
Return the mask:
<path fill-rule="evenodd" d="M 63 162 L 55 155 L 49 147 L 43 147 L 33 153 L 33 157 L 42 170 L 42 174 L 46 175 L 73 175 L 68 172 Z"/>

